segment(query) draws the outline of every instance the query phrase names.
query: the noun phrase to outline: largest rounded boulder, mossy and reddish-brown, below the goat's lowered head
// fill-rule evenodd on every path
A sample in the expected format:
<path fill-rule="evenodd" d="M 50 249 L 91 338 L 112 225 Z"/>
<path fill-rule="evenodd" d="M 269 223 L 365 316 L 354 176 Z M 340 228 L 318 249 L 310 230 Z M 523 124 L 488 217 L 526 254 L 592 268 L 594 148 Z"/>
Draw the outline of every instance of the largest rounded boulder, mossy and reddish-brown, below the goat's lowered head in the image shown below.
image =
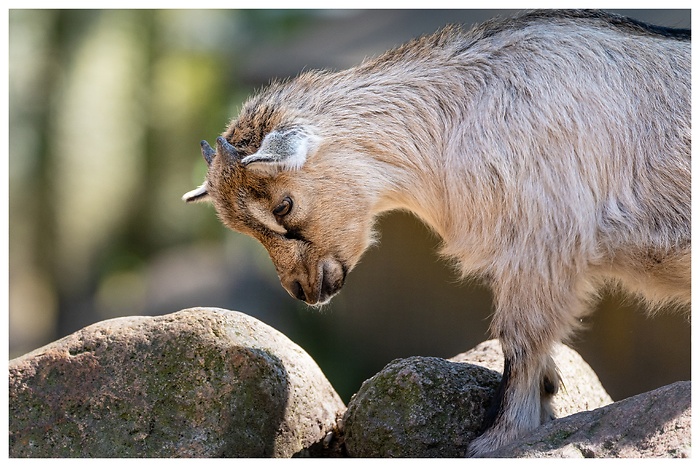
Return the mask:
<path fill-rule="evenodd" d="M 9 370 L 12 457 L 290 457 L 345 409 L 300 347 L 212 308 L 97 323 Z"/>

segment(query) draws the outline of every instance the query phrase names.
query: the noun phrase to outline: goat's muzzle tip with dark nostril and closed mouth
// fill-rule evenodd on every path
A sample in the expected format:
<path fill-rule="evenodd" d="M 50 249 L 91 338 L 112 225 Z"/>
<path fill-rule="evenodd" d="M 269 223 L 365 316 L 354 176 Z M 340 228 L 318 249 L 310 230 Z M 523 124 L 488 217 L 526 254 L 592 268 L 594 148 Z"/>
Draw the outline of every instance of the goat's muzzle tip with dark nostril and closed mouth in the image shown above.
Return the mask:
<path fill-rule="evenodd" d="M 345 284 L 348 268 L 338 260 L 319 261 L 315 278 L 298 278 L 285 287 L 289 294 L 308 305 L 325 305 Z"/>

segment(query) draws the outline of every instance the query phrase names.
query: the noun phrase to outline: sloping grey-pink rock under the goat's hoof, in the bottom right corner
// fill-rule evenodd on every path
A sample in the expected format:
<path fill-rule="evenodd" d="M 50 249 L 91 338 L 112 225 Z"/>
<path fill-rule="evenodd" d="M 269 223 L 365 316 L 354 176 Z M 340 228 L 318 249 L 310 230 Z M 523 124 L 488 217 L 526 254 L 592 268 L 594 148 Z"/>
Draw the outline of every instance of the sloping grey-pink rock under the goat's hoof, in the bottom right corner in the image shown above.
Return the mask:
<path fill-rule="evenodd" d="M 689 457 L 690 381 L 542 425 L 489 457 Z"/>

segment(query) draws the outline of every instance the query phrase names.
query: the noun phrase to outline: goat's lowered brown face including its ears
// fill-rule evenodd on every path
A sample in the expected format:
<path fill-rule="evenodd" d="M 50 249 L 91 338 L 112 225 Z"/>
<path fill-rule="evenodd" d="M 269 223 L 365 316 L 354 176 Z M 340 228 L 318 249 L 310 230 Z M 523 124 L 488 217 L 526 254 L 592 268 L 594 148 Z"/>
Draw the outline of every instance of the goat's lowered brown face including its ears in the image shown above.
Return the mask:
<path fill-rule="evenodd" d="M 327 303 L 372 242 L 368 196 L 320 157 L 321 140 L 305 129 L 272 130 L 247 156 L 245 142 L 230 133 L 216 149 L 202 142 L 207 179 L 183 199 L 212 201 L 226 226 L 267 249 L 290 295 Z"/>

